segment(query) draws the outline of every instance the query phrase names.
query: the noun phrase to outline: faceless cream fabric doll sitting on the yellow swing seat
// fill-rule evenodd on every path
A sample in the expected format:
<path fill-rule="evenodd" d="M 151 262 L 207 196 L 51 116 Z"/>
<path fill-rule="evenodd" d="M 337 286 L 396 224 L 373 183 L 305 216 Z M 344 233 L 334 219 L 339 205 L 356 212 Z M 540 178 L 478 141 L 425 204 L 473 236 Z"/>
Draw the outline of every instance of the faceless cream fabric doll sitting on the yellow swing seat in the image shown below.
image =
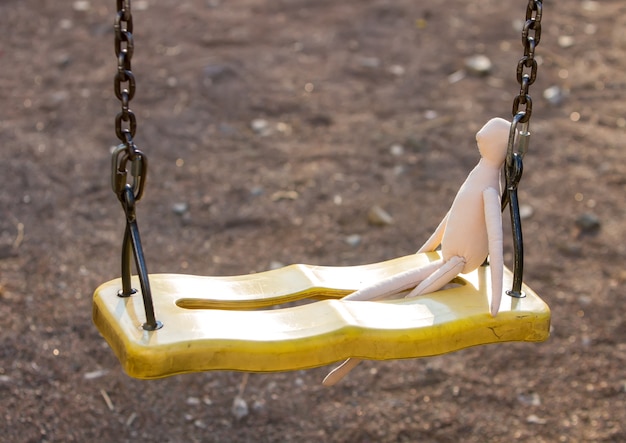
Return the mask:
<path fill-rule="evenodd" d="M 501 118 L 489 120 L 476 134 L 481 159 L 459 189 L 448 214 L 418 253 L 434 251 L 441 244 L 442 258 L 417 269 L 381 280 L 344 297 L 344 300 L 381 300 L 437 291 L 456 275 L 478 268 L 489 255 L 491 265 L 491 315 L 500 309 L 502 275 L 502 215 L 500 173 L 506 159 L 511 124 Z M 348 359 L 323 381 L 332 386 L 341 380 L 359 359 Z"/>

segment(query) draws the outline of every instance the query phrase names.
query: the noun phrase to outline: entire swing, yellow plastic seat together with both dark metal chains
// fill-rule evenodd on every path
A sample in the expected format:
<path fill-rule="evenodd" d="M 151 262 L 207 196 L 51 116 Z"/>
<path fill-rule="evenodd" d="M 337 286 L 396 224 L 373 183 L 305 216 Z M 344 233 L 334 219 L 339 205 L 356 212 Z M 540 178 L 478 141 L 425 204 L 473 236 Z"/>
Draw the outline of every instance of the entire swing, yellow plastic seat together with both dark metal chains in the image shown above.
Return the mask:
<path fill-rule="evenodd" d="M 130 376 L 153 379 L 208 370 L 286 371 L 346 358 L 418 358 L 477 345 L 539 342 L 548 338 L 550 310 L 522 283 L 523 248 L 517 201 L 522 157 L 530 135 L 532 100 L 528 88 L 536 77 L 534 48 L 541 30 L 540 0 L 529 0 L 526 11 L 522 31 L 525 53 L 517 71 L 522 88 L 513 104 L 514 119 L 504 168 L 507 191 L 501 203 L 502 209 L 508 204 L 511 211 L 513 272 L 495 263 L 493 269 L 490 264 L 478 266 L 479 262 L 471 272 L 455 272 L 454 284 L 443 289 L 438 286 L 439 290 L 417 297 L 376 301 L 351 300 L 350 296 L 394 276 L 439 266 L 441 262 L 449 265 L 452 260 L 446 263 L 442 248 L 442 252 L 418 252 L 361 266 L 291 265 L 228 277 L 148 274 L 135 213 L 135 203 L 143 194 L 147 158 L 134 144 L 136 119 L 129 109 L 135 91 L 130 63 L 134 51 L 133 22 L 130 0 L 117 0 L 117 5 L 115 93 L 122 111 L 116 116 L 115 125 L 122 143 L 113 151 L 112 187 L 126 215 L 126 231 L 122 276 L 96 289 L 93 320 Z M 525 69 L 530 69 L 530 73 Z M 524 109 L 520 111 L 521 106 Z M 514 152 L 516 140 L 519 149 Z M 127 183 L 128 170 L 132 185 Z M 485 206 L 489 203 L 490 215 L 497 214 L 497 197 L 494 204 L 493 195 L 486 192 Z M 485 209 L 485 216 L 487 212 Z M 490 242 L 490 256 L 491 253 Z M 500 245 L 498 265 L 502 265 L 501 253 Z M 131 255 L 137 277 L 131 277 Z M 502 269 L 502 287 L 512 289 L 498 288 L 493 293 L 492 274 L 499 276 Z M 427 281 L 430 282 L 428 278 L 424 280 Z M 412 289 L 404 280 L 403 285 L 394 297 Z M 501 300 L 497 315 L 493 300 Z"/>

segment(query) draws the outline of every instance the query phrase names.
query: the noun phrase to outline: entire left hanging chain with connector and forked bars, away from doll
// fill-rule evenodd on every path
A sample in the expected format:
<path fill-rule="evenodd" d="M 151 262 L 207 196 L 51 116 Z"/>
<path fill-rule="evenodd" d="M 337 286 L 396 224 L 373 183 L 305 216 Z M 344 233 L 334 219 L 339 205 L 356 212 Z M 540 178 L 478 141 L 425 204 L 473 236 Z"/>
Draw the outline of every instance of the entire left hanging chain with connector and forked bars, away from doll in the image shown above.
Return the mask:
<path fill-rule="evenodd" d="M 137 291 L 131 286 L 131 256 L 134 258 L 146 313 L 147 331 L 154 331 L 163 325 L 154 315 L 154 305 L 150 291 L 150 281 L 146 261 L 141 246 L 139 226 L 135 204 L 143 195 L 144 183 L 148 172 L 148 159 L 137 149 L 134 137 L 137 132 L 137 118 L 130 109 L 130 102 L 135 96 L 135 76 L 131 69 L 131 59 L 135 50 L 133 41 L 133 16 L 130 0 L 116 0 L 117 13 L 113 30 L 115 32 L 115 56 L 117 73 L 113 82 L 115 96 L 120 101 L 122 110 L 115 116 L 115 135 L 122 142 L 112 152 L 111 185 L 113 192 L 122 203 L 126 215 L 126 230 L 122 244 L 122 289 L 120 297 L 130 297 Z M 130 164 L 130 165 L 129 165 Z M 128 183 L 128 169 L 132 177 Z"/>

